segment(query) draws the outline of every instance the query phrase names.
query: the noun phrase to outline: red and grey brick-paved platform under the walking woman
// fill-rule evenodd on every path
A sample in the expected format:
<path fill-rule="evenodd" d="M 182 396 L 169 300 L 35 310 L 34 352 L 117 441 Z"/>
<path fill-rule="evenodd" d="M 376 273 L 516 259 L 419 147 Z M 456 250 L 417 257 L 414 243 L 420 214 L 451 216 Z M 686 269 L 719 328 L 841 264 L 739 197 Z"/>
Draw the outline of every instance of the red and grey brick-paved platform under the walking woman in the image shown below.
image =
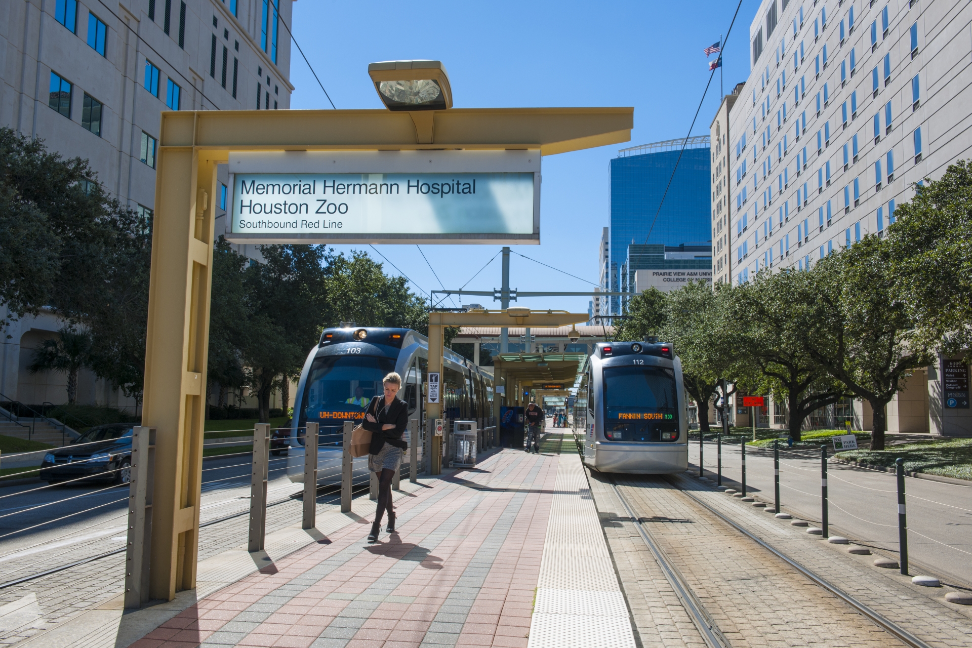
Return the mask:
<path fill-rule="evenodd" d="M 397 503 L 397 533 L 368 545 L 368 508 L 131 645 L 525 648 L 561 459 L 504 450 L 424 478 Z"/>

